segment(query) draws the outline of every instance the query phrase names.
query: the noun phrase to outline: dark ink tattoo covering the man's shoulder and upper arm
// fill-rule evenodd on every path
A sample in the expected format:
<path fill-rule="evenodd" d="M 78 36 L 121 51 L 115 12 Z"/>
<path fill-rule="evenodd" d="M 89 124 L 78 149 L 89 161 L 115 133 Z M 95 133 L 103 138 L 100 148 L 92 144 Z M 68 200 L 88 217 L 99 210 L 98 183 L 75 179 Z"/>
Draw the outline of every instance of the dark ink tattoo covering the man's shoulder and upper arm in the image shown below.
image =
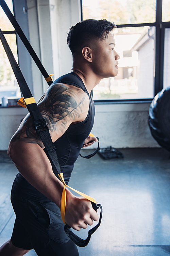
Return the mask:
<path fill-rule="evenodd" d="M 71 123 L 81 116 L 84 109 L 84 100 L 85 96 L 82 97 L 82 91 L 76 87 L 70 89 L 64 84 L 54 84 L 49 87 L 38 107 L 47 122 L 50 135 L 57 131 L 64 133 L 68 127 L 68 122 Z M 57 125 L 58 121 L 61 121 L 60 125 Z M 44 148 L 40 137 L 33 128 L 30 115 L 22 121 L 12 140 L 36 143 Z"/>

